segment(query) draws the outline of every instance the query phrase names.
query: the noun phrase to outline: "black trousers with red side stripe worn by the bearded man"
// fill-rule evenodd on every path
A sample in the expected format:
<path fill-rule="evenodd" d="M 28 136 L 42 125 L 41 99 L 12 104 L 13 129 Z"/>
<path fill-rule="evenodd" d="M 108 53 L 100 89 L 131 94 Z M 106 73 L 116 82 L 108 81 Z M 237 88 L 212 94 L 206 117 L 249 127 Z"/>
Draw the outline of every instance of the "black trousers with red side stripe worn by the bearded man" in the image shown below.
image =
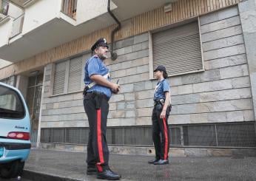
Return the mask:
<path fill-rule="evenodd" d="M 110 152 L 107 146 L 107 115 L 109 98 L 99 92 L 84 95 L 84 110 L 89 120 L 89 140 L 87 145 L 87 165 L 97 166 L 99 172 L 108 167 Z"/>

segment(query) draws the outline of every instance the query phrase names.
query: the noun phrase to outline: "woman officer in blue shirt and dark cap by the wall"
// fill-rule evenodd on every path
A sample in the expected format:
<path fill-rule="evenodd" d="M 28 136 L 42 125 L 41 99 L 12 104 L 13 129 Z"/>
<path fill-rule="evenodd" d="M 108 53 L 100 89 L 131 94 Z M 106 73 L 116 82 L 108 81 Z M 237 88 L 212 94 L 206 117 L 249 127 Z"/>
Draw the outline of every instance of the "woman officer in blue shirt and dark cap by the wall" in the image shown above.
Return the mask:
<path fill-rule="evenodd" d="M 164 66 L 158 66 L 155 70 L 158 83 L 155 86 L 154 102 L 152 112 L 152 138 L 155 146 L 155 160 L 149 164 L 169 164 L 169 126 L 168 117 L 171 111 L 169 83 L 166 81 L 167 73 Z M 160 136 L 161 134 L 161 136 Z"/>

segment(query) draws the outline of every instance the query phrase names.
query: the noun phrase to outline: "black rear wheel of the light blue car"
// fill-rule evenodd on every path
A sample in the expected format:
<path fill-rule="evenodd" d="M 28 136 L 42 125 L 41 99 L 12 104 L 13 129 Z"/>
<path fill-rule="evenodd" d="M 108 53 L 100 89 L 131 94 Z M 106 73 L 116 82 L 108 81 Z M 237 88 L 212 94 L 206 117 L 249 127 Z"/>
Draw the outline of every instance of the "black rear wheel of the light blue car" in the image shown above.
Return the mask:
<path fill-rule="evenodd" d="M 22 174 L 23 168 L 24 162 L 21 162 L 20 160 L 4 164 L 0 168 L 0 176 L 6 179 L 18 177 Z"/>

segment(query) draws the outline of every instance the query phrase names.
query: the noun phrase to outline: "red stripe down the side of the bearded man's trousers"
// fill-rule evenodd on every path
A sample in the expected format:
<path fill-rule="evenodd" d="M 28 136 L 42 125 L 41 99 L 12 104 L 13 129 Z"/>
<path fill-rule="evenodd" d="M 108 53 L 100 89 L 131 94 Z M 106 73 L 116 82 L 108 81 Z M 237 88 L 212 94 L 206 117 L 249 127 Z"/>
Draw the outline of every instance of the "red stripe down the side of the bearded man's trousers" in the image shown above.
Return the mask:
<path fill-rule="evenodd" d="M 103 171 L 101 164 L 104 163 L 102 141 L 101 141 L 101 109 L 97 109 L 97 139 L 98 139 L 98 156 L 100 163 L 97 163 L 98 171 Z"/>

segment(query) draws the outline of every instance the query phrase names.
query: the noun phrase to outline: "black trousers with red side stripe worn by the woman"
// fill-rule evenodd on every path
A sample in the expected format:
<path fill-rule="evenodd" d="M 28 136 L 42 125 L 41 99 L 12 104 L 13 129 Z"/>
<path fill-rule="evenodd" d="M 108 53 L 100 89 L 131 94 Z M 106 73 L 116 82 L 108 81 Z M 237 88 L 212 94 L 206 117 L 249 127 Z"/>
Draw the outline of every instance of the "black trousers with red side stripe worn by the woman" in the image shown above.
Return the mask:
<path fill-rule="evenodd" d="M 156 104 L 152 112 L 152 139 L 155 146 L 155 159 L 168 160 L 169 153 L 169 126 L 168 117 L 170 107 L 166 109 L 166 117 L 160 118 L 163 106 Z"/>

